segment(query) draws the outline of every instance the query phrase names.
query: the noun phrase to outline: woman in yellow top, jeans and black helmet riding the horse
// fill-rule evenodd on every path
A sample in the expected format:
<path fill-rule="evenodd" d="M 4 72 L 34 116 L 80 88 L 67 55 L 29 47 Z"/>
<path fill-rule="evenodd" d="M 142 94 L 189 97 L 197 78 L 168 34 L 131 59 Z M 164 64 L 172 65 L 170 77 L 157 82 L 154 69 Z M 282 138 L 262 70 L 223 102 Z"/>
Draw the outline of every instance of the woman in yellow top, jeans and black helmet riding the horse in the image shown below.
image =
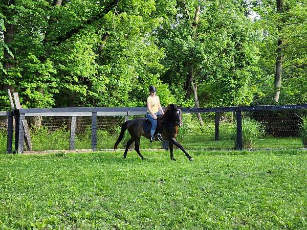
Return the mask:
<path fill-rule="evenodd" d="M 153 85 L 149 86 L 149 93 L 150 95 L 147 98 L 147 113 L 146 118 L 151 123 L 151 129 L 150 129 L 150 142 L 155 140 L 155 137 L 153 137 L 153 134 L 155 134 L 156 128 L 157 128 L 157 116 L 163 115 L 163 109 L 160 104 L 160 99 L 156 95 L 157 88 Z"/>

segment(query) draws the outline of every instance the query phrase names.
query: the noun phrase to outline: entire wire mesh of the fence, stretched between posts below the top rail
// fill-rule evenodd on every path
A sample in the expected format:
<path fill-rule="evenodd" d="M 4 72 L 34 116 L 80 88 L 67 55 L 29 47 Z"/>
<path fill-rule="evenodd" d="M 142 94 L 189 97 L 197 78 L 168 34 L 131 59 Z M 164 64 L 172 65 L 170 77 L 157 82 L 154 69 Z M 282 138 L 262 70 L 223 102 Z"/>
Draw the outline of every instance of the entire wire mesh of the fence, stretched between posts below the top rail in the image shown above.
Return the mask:
<path fill-rule="evenodd" d="M 183 114 L 183 126 L 177 140 L 186 149 L 236 149 L 237 121 L 235 112 L 203 112 L 203 125 L 195 113 Z M 121 125 L 138 116 L 97 116 L 97 150 L 113 149 Z M 28 117 L 26 120 L 33 151 L 72 149 L 72 117 Z M 7 116 L 0 117 L 0 152 L 7 150 Z M 14 127 L 15 128 L 15 127 Z M 268 110 L 242 112 L 243 149 L 302 149 L 307 147 L 307 110 Z M 118 149 L 124 149 L 130 139 L 126 131 Z M 13 137 L 14 140 L 14 137 Z M 73 149 L 91 149 L 92 117 L 75 120 Z M 14 146 L 14 144 L 13 144 Z M 141 149 L 161 149 L 163 142 L 149 143 L 141 138 Z M 167 146 L 167 145 L 166 145 Z M 134 145 L 130 147 L 133 149 Z"/>

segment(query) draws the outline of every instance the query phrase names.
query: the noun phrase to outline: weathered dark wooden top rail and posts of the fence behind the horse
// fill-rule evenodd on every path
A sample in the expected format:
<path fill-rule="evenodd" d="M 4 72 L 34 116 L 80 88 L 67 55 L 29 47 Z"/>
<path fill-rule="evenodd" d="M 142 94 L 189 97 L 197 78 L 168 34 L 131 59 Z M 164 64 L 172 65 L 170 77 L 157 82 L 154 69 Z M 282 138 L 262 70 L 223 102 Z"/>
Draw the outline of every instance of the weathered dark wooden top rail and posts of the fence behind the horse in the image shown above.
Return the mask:
<path fill-rule="evenodd" d="M 183 113 L 215 113 L 214 117 L 214 139 L 220 139 L 220 118 L 225 112 L 232 112 L 236 120 L 236 149 L 243 149 L 243 112 L 257 111 L 282 111 L 282 110 L 307 110 L 307 104 L 296 105 L 267 105 L 267 106 L 233 106 L 233 107 L 184 107 Z M 91 148 L 97 150 L 97 124 L 98 117 L 124 117 L 128 120 L 131 116 L 143 116 L 146 114 L 147 107 L 69 107 L 69 108 L 30 108 L 15 109 L 13 112 L 0 112 L 0 116 L 7 117 L 7 153 L 13 152 L 13 118 L 15 118 L 15 152 L 24 152 L 25 129 L 23 121 L 27 117 L 69 117 L 70 138 L 69 148 L 75 148 L 76 118 L 89 117 L 91 119 Z"/>

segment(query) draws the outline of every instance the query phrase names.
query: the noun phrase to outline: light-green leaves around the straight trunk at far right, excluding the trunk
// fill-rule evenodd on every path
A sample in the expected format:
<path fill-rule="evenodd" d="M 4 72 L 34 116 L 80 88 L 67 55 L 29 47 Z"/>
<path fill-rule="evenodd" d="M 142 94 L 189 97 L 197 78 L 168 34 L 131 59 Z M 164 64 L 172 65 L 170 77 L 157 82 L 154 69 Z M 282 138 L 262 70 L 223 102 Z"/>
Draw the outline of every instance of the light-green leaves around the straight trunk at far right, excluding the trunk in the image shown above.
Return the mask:
<path fill-rule="evenodd" d="M 304 44 L 307 42 L 306 1 L 283 1 L 283 13 L 276 11 L 276 2 L 253 2 L 258 19 L 255 26 L 262 31 L 258 43 L 260 59 L 254 70 L 255 104 L 272 104 L 277 40 L 283 41 L 282 84 L 279 104 L 306 102 L 306 58 Z"/>

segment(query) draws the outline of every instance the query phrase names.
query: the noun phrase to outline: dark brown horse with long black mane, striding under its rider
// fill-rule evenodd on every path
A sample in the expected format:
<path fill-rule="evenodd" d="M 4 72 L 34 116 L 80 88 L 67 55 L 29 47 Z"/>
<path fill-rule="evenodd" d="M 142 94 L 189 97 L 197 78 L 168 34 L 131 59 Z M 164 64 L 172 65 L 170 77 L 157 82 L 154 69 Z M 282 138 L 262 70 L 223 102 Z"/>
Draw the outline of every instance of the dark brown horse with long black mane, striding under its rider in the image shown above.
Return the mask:
<path fill-rule="evenodd" d="M 140 153 L 140 139 L 141 136 L 145 136 L 147 139 L 150 139 L 150 128 L 149 121 L 146 118 L 137 118 L 133 120 L 126 121 L 122 127 L 119 134 L 119 137 L 114 145 L 114 150 L 116 151 L 118 144 L 123 139 L 126 129 L 131 136 L 129 141 L 127 142 L 126 149 L 123 155 L 123 158 L 126 158 L 128 149 L 130 145 L 135 142 L 135 150 L 139 154 L 142 159 L 145 159 Z M 176 137 L 178 134 L 178 126 L 182 126 L 182 112 L 181 108 L 177 105 L 170 104 L 167 106 L 164 115 L 158 118 L 158 126 L 157 130 L 161 134 L 163 140 L 167 140 L 169 142 L 169 150 L 170 150 L 170 159 L 176 160 L 173 157 L 173 145 L 176 145 L 180 148 L 189 160 L 194 160 L 185 149 L 176 141 Z M 157 136 L 155 135 L 155 140 L 157 140 Z"/>

